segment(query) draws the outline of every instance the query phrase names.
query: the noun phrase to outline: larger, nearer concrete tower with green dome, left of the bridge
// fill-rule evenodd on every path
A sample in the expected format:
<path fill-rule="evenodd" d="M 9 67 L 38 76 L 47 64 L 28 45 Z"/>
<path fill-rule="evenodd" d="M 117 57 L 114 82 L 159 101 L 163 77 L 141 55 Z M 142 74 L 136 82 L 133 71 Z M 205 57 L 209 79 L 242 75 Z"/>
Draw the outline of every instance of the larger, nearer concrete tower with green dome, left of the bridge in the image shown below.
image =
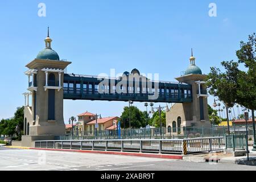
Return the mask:
<path fill-rule="evenodd" d="M 31 140 L 53 139 L 54 136 L 65 134 L 63 78 L 64 69 L 71 62 L 60 60 L 57 52 L 51 48 L 49 28 L 48 36 L 44 41 L 46 48 L 26 65 L 27 90 L 30 92 L 25 95 L 32 96 L 32 105 L 29 106 L 27 103 L 24 107 L 23 146 L 28 146 Z"/>

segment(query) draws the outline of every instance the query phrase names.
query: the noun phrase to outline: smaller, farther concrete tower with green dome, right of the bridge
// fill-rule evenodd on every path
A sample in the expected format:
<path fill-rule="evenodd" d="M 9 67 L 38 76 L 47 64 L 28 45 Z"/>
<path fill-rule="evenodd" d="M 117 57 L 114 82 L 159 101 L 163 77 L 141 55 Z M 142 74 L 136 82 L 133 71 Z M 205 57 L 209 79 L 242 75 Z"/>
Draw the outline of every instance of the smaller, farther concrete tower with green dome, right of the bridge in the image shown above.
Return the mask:
<path fill-rule="evenodd" d="M 208 116 L 207 87 L 205 86 L 206 75 L 202 74 L 199 67 L 196 66 L 196 58 L 192 55 L 189 58 L 190 65 L 183 76 L 175 78 L 179 82 L 192 85 L 191 103 L 175 104 L 170 111 L 166 113 L 166 127 L 169 127 L 171 133 L 180 132 L 183 134 L 182 127 L 189 126 L 210 126 Z M 170 128 L 171 127 L 171 128 Z"/>

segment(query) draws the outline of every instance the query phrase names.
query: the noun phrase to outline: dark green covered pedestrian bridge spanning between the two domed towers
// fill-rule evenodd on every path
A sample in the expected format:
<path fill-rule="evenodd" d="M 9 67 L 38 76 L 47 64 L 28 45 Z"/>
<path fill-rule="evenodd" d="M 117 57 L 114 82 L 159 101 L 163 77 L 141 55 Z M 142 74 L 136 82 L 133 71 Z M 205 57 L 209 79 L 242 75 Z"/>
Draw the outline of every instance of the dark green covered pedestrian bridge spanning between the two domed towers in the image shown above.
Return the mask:
<path fill-rule="evenodd" d="M 104 81 L 105 84 L 102 84 Z M 130 83 L 129 79 L 126 79 L 127 82 L 125 81 L 125 84 L 123 84 L 123 81 L 123 77 L 104 78 L 64 74 L 63 98 L 67 100 L 92 101 L 192 102 L 192 86 L 189 84 L 156 82 L 147 78 L 144 79 L 144 82 L 139 79 L 138 81 L 133 79 Z M 118 88 L 121 92 L 118 92 Z M 156 97 L 153 97 L 154 95 Z"/>

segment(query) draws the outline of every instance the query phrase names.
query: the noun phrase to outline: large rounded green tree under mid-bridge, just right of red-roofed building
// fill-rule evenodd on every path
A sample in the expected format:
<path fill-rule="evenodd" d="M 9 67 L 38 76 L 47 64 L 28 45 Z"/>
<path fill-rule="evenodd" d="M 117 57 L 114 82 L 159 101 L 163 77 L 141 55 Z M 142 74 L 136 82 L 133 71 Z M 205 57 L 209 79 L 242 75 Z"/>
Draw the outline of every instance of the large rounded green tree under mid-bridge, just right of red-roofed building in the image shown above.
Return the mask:
<path fill-rule="evenodd" d="M 130 119 L 131 119 L 131 128 L 138 129 L 140 127 L 146 126 L 145 114 L 136 106 L 130 106 Z M 129 128 L 129 107 L 124 107 L 121 115 L 121 127 Z"/>

